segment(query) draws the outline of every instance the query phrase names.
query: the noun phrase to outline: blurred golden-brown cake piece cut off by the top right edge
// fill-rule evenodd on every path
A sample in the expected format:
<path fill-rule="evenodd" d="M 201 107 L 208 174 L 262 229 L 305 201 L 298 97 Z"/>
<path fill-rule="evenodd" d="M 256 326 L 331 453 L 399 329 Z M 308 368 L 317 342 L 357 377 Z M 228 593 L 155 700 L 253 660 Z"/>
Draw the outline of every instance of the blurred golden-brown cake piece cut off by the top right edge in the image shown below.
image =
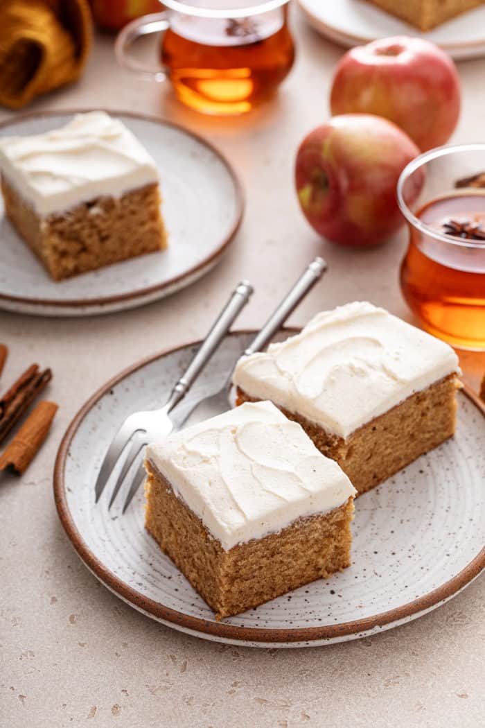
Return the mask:
<path fill-rule="evenodd" d="M 478 5 L 483 5 L 485 0 L 367 0 L 377 5 L 382 10 L 396 15 L 406 23 L 420 28 L 421 31 L 430 31 L 436 25 L 445 23 L 446 20 L 461 15 L 462 12 L 471 10 Z"/>

